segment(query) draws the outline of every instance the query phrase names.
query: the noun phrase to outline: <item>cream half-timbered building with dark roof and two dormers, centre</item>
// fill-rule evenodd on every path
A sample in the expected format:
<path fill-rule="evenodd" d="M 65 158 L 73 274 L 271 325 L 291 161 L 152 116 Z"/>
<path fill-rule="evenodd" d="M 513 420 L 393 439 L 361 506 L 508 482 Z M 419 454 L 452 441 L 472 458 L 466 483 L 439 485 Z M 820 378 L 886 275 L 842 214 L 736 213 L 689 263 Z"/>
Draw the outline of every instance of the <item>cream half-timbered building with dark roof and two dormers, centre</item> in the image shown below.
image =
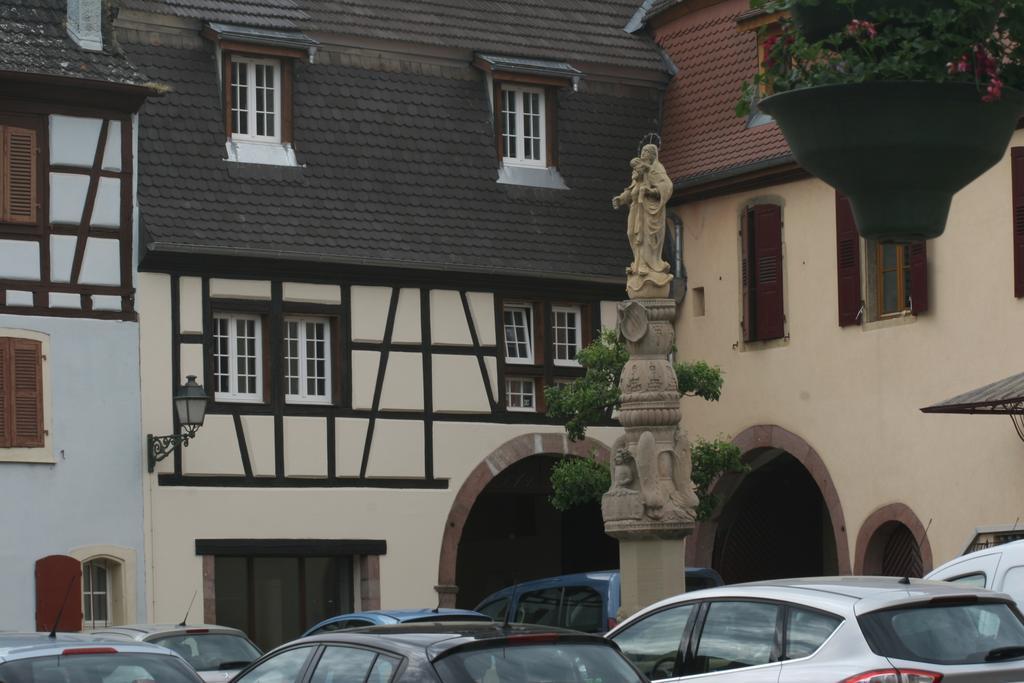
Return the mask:
<path fill-rule="evenodd" d="M 268 645 L 614 566 L 545 501 L 544 387 L 613 327 L 611 197 L 669 72 L 639 3 L 125 0 L 140 114 L 142 405 L 205 425 L 145 484 L 150 616 Z"/>

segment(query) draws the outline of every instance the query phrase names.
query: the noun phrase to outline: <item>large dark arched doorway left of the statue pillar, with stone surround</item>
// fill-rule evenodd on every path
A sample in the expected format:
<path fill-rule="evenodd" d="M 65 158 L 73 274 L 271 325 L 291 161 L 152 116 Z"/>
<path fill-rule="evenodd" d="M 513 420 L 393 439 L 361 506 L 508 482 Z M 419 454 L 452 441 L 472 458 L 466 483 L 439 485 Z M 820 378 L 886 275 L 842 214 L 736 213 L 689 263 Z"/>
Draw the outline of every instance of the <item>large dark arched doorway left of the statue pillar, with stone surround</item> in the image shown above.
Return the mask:
<path fill-rule="evenodd" d="M 442 606 L 473 607 L 516 581 L 618 566 L 598 504 L 559 513 L 548 497 L 560 454 L 607 462 L 594 439 L 523 434 L 481 462 L 463 483 L 444 525 L 438 567 Z"/>

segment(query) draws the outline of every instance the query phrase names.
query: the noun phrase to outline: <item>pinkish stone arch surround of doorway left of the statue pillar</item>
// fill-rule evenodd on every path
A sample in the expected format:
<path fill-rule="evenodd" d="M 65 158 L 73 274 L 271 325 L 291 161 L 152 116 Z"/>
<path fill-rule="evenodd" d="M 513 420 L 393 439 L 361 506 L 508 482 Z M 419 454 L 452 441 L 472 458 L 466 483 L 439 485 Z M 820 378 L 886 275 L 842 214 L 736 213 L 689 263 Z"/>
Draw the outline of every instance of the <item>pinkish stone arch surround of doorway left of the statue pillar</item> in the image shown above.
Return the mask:
<path fill-rule="evenodd" d="M 510 439 L 484 458 L 459 487 L 447 519 L 444 520 L 444 532 L 441 537 L 440 561 L 437 567 L 438 602 L 441 607 L 455 607 L 456 593 L 456 560 L 459 554 L 459 540 L 463 527 L 469 518 L 476 498 L 490 481 L 503 470 L 511 467 L 530 456 L 564 454 L 578 458 L 595 458 L 600 462 L 608 462 L 610 449 L 590 437 L 581 441 L 570 441 L 564 433 L 531 433 L 521 434 Z"/>

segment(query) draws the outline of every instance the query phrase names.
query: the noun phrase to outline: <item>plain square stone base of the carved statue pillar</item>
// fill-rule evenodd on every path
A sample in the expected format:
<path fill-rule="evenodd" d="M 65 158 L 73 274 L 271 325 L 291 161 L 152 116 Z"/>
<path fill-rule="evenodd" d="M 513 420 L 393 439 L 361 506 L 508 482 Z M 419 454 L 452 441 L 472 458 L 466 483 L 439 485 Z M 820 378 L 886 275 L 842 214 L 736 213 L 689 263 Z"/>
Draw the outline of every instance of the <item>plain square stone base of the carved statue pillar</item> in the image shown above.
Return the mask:
<path fill-rule="evenodd" d="M 620 622 L 686 590 L 685 551 L 684 539 L 618 540 Z"/>

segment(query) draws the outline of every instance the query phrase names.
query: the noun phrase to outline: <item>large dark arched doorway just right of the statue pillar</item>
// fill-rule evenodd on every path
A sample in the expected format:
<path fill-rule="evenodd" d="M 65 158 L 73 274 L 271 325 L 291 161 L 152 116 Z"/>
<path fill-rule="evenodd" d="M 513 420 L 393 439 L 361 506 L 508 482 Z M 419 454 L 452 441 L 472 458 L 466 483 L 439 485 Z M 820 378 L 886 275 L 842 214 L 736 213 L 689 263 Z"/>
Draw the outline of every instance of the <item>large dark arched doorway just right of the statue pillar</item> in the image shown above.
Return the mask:
<path fill-rule="evenodd" d="M 687 563 L 714 567 L 727 583 L 850 573 L 843 509 L 817 453 L 774 425 L 748 429 L 733 443 L 751 471 L 716 482 L 723 502 L 697 524 Z"/>

